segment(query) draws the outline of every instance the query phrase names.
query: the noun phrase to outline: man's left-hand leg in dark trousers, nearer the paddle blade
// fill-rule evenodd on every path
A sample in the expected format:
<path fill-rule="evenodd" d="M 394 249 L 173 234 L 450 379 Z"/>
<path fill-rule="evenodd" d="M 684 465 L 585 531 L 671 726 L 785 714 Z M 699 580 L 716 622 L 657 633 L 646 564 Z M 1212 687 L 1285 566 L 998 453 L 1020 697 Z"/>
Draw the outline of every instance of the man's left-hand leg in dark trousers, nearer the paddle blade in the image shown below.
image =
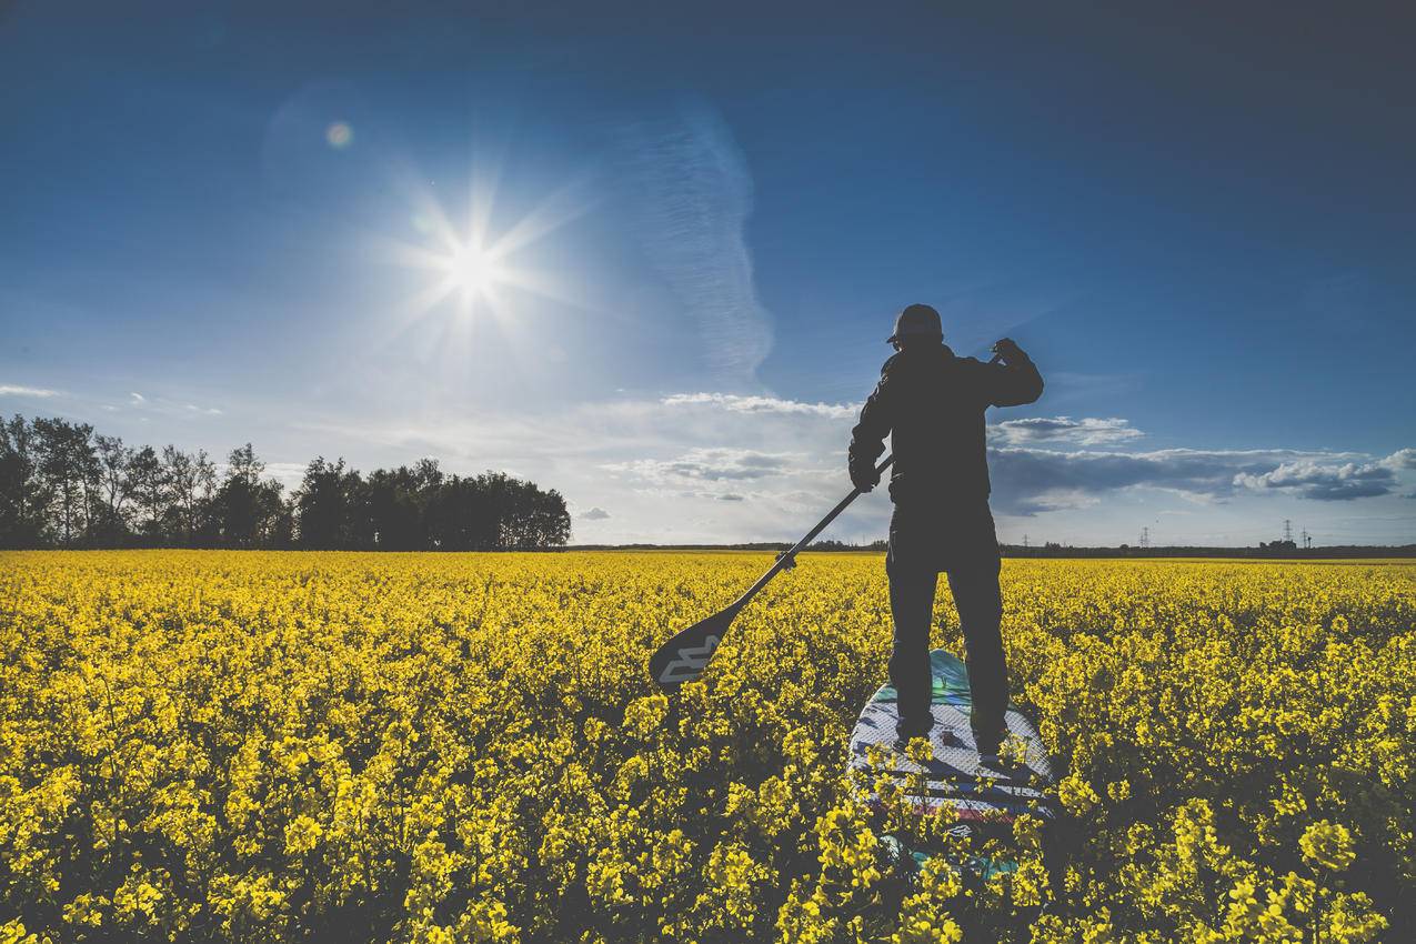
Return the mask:
<path fill-rule="evenodd" d="M 885 572 L 889 576 L 889 609 L 895 617 L 889 681 L 899 696 L 899 733 L 906 737 L 922 737 L 935 723 L 929 710 L 933 695 L 929 627 L 935 616 L 935 586 L 939 573 L 918 563 L 902 563 L 893 548 L 885 558 Z"/>

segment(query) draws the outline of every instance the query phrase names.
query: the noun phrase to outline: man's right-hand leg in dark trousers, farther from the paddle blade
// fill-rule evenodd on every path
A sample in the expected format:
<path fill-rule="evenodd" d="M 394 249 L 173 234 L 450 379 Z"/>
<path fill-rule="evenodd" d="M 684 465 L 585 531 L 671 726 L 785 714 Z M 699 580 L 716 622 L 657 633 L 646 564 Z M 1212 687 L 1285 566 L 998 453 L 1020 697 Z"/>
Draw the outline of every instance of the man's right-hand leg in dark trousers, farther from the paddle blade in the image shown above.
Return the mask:
<path fill-rule="evenodd" d="M 997 753 L 1007 735 L 1008 665 L 1003 654 L 1003 594 L 998 590 L 997 556 L 949 570 L 949 589 L 964 628 L 969 689 L 973 693 L 970 722 L 980 753 Z M 986 750 L 987 749 L 987 750 Z"/>

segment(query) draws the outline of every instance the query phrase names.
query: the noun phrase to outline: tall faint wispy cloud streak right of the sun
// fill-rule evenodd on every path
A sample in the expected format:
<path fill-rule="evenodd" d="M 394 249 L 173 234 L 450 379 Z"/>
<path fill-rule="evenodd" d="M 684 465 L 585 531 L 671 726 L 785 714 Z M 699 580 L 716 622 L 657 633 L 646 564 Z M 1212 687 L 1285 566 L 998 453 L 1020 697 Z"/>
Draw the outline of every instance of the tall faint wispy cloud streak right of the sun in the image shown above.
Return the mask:
<path fill-rule="evenodd" d="M 752 280 L 752 175 L 732 132 L 695 105 L 626 127 L 620 144 L 646 256 L 697 324 L 708 367 L 750 382 L 772 348 L 772 318 Z"/>

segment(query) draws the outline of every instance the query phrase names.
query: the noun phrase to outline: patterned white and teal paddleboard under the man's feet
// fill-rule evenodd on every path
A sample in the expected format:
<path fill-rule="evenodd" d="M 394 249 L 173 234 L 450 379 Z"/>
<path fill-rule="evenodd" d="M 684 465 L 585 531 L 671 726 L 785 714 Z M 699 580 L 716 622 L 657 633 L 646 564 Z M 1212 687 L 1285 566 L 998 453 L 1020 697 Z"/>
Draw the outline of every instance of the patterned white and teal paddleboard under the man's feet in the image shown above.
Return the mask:
<path fill-rule="evenodd" d="M 929 760 L 915 761 L 896 747 L 899 702 L 893 686 L 881 686 L 855 722 L 848 776 L 867 802 L 882 808 L 875 784 L 884 777 L 905 790 L 903 804 L 912 812 L 925 817 L 940 807 L 952 807 L 957 817 L 953 835 L 1004 838 L 1024 814 L 1042 819 L 1044 825 L 1055 819 L 1055 804 L 1048 797 L 1054 783 L 1052 763 L 1032 722 L 1010 703 L 1010 743 L 1004 754 L 1011 763 L 986 763 L 969 725 L 973 698 L 964 664 L 944 650 L 932 651 L 929 662 L 935 716 Z M 919 851 L 910 852 L 919 858 Z"/>

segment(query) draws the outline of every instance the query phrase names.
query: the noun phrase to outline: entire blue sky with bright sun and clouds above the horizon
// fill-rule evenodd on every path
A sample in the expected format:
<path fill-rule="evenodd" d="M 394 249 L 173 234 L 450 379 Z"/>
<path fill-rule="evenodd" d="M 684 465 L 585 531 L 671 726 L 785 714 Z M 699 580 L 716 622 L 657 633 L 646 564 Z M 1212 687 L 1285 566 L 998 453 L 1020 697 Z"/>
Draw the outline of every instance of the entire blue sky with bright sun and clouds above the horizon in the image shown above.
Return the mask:
<path fill-rule="evenodd" d="M 1007 541 L 1416 541 L 1416 35 L 1375 7 L 0 10 L 6 413 L 787 539 L 927 301 L 1046 378 L 990 418 Z"/>

